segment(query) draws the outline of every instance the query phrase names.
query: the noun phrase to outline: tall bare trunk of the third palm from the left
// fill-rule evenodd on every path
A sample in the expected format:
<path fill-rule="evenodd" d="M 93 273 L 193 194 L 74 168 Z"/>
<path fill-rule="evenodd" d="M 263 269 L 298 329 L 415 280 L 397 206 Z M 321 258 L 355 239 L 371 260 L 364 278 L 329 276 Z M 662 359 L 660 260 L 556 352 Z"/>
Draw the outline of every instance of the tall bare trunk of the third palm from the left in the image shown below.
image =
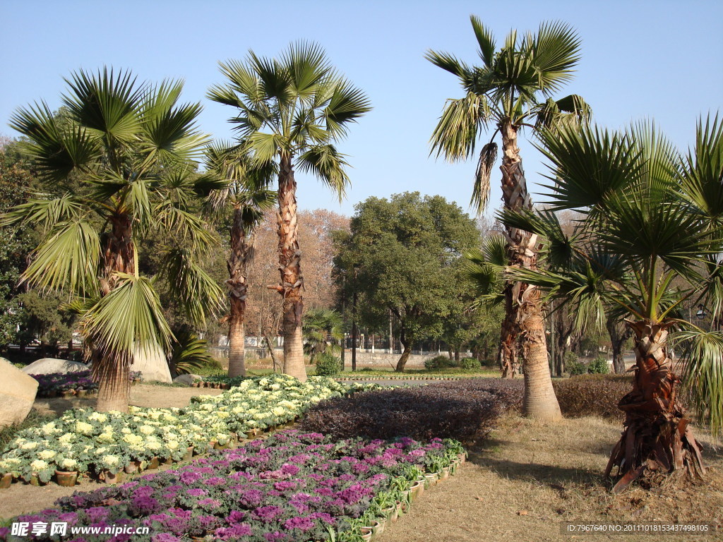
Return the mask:
<path fill-rule="evenodd" d="M 278 176 L 278 263 L 281 285 L 275 289 L 283 296 L 283 372 L 306 382 L 304 343 L 301 336 L 301 314 L 304 301 L 301 289 L 301 251 L 296 218 L 296 180 L 291 157 L 281 157 Z"/>

